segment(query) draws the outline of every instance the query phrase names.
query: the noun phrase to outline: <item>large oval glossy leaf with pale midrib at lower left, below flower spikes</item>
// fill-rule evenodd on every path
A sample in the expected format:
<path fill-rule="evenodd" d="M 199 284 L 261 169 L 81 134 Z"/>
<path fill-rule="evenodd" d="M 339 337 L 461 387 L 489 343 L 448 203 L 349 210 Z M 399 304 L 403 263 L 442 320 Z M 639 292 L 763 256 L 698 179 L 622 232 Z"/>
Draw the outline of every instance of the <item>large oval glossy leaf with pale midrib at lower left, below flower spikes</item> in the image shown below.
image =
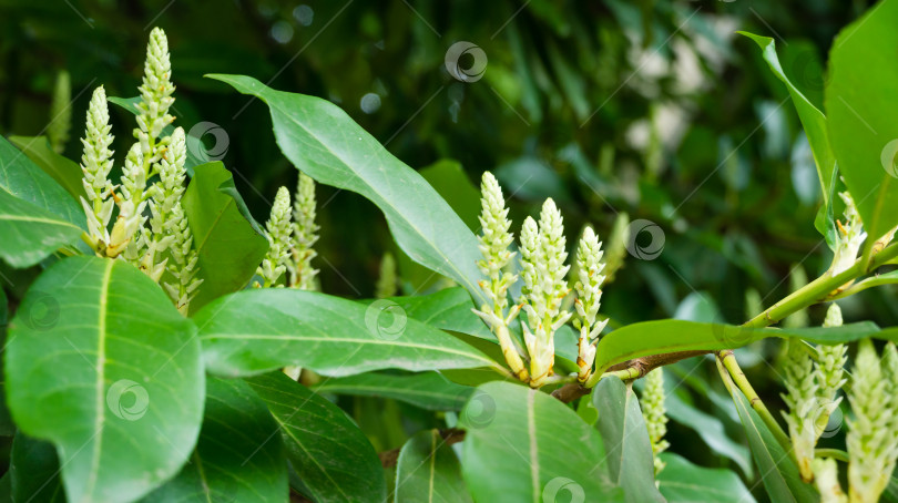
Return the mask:
<path fill-rule="evenodd" d="M 187 460 L 205 391 L 200 341 L 130 264 L 72 257 L 47 269 L 4 356 L 12 418 L 57 446 L 69 501 L 137 499 Z"/>

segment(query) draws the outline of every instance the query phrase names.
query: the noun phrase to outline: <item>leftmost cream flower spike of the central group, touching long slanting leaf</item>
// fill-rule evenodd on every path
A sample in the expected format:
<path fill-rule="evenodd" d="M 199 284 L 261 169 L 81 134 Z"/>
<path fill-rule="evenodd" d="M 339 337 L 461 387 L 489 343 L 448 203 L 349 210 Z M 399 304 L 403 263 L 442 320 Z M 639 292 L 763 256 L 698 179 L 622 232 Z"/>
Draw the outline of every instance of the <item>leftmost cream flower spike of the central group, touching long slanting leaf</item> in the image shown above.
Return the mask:
<path fill-rule="evenodd" d="M 509 233 L 511 222 L 508 219 L 508 208 L 506 208 L 506 201 L 502 197 L 502 188 L 496 177 L 492 176 L 492 173 L 483 173 L 480 192 L 482 208 L 480 226 L 482 234 L 478 236 L 478 240 L 483 259 L 478 260 L 477 266 L 487 277 L 486 280 L 480 281 L 480 288 L 486 294 L 487 299 L 492 302 L 492 306 L 483 304 L 480 310 L 474 309 L 473 311 L 496 335 L 511 371 L 518 379 L 527 381 L 529 380 L 527 368 L 523 360 L 521 360 L 521 353 L 511 340 L 508 328 L 518 316 L 520 308 L 513 306 L 506 316 L 508 288 L 517 279 L 514 275 L 503 270 L 514 256 L 514 253 L 508 249 L 513 240 L 511 233 Z"/>

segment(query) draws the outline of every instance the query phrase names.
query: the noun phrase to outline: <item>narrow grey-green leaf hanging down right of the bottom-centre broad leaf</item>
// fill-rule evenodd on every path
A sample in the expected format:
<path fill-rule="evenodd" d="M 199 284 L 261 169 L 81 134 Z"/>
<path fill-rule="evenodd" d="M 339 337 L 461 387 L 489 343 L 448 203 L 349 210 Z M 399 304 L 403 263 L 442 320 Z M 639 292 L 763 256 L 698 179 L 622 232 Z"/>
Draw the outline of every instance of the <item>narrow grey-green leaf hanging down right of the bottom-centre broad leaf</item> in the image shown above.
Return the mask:
<path fill-rule="evenodd" d="M 663 502 L 655 486 L 652 443 L 633 388 L 616 377 L 604 378 L 592 391 L 599 410 L 596 428 L 608 452 L 611 480 L 624 490 L 627 502 Z"/>

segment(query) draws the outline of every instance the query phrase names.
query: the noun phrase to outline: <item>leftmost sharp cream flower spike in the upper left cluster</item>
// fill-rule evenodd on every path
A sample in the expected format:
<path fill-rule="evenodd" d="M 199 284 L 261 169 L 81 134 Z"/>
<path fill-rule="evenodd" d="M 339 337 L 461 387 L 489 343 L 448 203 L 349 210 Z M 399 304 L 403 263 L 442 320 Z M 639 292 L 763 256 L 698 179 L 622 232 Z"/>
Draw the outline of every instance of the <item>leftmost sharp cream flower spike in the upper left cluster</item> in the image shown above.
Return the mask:
<path fill-rule="evenodd" d="M 110 242 L 109 220 L 113 205 L 111 195 L 114 187 L 109 181 L 109 172 L 112 170 L 111 130 L 106 93 L 101 85 L 91 96 L 86 132 L 81 140 L 84 145 L 84 153 L 81 156 L 83 174 L 81 183 L 84 186 L 84 196 L 81 197 L 81 205 L 88 217 L 88 233 L 84 240 L 101 257 L 105 256 Z"/>

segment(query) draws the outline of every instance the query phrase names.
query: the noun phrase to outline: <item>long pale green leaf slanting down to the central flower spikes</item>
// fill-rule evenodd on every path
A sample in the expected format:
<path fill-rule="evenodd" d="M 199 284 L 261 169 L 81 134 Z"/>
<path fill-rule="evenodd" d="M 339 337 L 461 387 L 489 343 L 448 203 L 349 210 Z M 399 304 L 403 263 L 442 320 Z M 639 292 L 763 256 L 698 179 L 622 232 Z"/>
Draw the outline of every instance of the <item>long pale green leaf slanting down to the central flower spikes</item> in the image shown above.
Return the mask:
<path fill-rule="evenodd" d="M 284 155 L 315 181 L 361 194 L 387 217 L 412 260 L 448 276 L 480 302 L 473 233 L 415 170 L 396 158 L 335 104 L 275 91 L 244 75 L 207 75 L 264 101 Z"/>

